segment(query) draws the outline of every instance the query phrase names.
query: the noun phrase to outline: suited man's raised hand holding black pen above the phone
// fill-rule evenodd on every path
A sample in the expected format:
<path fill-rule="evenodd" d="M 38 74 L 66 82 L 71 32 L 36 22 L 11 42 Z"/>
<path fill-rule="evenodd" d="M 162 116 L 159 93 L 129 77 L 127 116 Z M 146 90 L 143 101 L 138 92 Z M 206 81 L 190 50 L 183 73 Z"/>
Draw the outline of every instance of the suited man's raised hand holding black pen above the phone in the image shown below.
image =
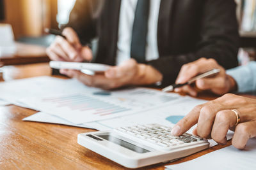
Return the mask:
<path fill-rule="evenodd" d="M 67 39 L 57 36 L 54 43 L 47 48 L 47 55 L 52 60 L 81 62 L 92 60 L 92 50 L 82 46 L 76 32 L 67 27 L 62 32 Z"/>

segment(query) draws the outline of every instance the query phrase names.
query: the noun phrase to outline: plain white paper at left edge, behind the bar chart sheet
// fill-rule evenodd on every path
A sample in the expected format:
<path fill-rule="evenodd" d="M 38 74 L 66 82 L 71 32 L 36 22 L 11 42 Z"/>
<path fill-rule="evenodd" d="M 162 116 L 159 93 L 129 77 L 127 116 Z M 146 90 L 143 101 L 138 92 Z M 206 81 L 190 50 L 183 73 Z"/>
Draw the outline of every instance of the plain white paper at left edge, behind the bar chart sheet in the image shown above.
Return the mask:
<path fill-rule="evenodd" d="M 79 93 L 84 90 L 96 92 L 99 89 L 86 87 L 74 79 L 63 80 L 50 76 L 40 76 L 0 82 L 0 99 L 17 106 L 29 108 L 26 103 L 22 103 L 19 100 L 24 97 L 41 97 L 46 94 L 67 94 L 72 92 Z M 33 107 L 31 108 L 33 109 Z"/>

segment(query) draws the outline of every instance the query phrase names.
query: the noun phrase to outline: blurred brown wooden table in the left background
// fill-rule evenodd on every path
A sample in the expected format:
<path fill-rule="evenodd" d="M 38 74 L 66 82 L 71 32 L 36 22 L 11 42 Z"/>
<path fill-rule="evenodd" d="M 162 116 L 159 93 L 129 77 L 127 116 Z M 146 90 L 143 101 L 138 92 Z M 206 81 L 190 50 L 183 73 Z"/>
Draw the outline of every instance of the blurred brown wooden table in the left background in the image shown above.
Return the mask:
<path fill-rule="evenodd" d="M 0 57 L 0 65 L 20 65 L 40 62 L 49 62 L 49 57 L 46 55 L 46 48 L 38 45 L 27 45 L 16 43 L 17 52 L 8 57 Z"/>

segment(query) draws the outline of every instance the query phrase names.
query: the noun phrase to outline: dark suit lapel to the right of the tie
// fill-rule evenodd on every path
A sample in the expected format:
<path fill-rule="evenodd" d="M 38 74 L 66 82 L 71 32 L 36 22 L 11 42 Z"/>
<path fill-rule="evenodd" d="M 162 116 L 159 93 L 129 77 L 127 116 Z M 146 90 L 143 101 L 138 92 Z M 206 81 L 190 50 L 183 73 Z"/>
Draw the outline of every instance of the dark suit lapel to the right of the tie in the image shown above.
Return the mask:
<path fill-rule="evenodd" d="M 175 0 L 161 0 L 157 26 L 157 42 L 159 56 L 162 52 L 168 52 L 168 39 L 170 35 L 170 22 L 172 21 L 172 9 Z M 170 50 L 170 49 L 169 49 Z"/>

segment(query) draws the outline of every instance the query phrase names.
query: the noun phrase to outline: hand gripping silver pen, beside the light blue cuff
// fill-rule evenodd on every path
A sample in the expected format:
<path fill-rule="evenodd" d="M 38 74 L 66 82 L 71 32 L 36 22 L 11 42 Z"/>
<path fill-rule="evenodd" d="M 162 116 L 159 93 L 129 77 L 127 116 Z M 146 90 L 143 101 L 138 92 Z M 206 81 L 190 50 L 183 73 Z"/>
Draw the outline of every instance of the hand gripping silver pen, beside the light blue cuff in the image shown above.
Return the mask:
<path fill-rule="evenodd" d="M 218 95 L 226 94 L 227 92 L 235 90 L 236 81 L 231 76 L 226 74 L 225 69 L 221 67 L 214 59 L 201 58 L 195 62 L 185 64 L 181 67 L 175 83 L 186 83 L 194 76 L 205 73 L 206 71 L 214 68 L 220 69 L 220 73 L 214 77 L 196 80 L 196 88 L 200 90 L 211 90 Z M 185 92 L 191 96 L 197 96 L 196 89 L 189 85 L 175 89 L 175 92 Z"/>

